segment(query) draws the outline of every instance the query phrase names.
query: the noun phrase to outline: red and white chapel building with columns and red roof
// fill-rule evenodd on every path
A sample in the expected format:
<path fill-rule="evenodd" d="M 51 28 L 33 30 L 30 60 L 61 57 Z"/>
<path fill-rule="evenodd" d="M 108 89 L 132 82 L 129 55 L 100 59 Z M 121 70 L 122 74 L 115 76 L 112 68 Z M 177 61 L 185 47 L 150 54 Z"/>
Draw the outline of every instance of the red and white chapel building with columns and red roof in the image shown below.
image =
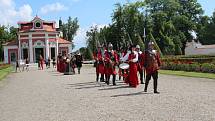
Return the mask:
<path fill-rule="evenodd" d="M 35 63 L 40 55 L 44 59 L 56 59 L 59 53 L 71 53 L 72 43 L 59 37 L 55 24 L 38 16 L 29 22 L 18 22 L 18 40 L 4 45 L 4 62 L 28 58 L 30 63 Z"/>

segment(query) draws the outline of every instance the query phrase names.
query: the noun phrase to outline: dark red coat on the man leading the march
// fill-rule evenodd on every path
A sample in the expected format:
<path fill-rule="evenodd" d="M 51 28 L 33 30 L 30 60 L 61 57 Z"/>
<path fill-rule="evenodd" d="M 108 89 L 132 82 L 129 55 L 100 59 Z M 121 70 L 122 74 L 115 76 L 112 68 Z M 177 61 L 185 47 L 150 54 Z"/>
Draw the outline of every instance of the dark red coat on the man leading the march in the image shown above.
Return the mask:
<path fill-rule="evenodd" d="M 147 74 L 156 72 L 161 65 L 160 54 L 157 51 L 154 54 L 146 51 L 143 56 L 143 65 Z"/>

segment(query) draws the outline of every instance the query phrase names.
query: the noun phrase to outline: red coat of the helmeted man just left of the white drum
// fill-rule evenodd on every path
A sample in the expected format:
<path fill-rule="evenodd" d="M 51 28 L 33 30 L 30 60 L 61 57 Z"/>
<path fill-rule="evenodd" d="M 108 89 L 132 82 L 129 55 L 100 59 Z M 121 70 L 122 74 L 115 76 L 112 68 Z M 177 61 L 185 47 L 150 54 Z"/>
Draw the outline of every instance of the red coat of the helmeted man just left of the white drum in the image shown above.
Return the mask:
<path fill-rule="evenodd" d="M 115 66 L 118 63 L 118 55 L 115 51 L 105 52 L 105 74 L 107 75 L 116 75 Z"/>

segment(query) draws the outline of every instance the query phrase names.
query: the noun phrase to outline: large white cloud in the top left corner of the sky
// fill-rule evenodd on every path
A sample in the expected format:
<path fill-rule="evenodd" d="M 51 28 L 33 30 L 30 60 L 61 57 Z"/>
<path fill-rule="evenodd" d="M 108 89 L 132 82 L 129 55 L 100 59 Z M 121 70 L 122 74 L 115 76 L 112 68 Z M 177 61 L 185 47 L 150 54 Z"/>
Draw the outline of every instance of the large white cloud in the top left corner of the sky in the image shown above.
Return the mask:
<path fill-rule="evenodd" d="M 0 24 L 17 25 L 17 21 L 32 19 L 32 8 L 29 4 L 16 8 L 13 0 L 0 0 Z"/>

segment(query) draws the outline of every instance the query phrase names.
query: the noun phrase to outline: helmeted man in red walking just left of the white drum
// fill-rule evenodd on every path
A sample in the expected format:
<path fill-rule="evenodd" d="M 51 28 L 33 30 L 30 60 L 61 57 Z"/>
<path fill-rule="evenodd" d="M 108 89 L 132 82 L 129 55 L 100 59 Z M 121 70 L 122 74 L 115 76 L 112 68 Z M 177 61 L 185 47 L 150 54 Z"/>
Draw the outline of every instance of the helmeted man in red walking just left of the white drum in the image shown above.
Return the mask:
<path fill-rule="evenodd" d="M 110 75 L 113 75 L 113 85 L 116 85 L 116 69 L 118 63 L 117 53 L 113 50 L 113 45 L 108 45 L 109 50 L 105 52 L 105 74 L 106 83 L 109 85 Z"/>

